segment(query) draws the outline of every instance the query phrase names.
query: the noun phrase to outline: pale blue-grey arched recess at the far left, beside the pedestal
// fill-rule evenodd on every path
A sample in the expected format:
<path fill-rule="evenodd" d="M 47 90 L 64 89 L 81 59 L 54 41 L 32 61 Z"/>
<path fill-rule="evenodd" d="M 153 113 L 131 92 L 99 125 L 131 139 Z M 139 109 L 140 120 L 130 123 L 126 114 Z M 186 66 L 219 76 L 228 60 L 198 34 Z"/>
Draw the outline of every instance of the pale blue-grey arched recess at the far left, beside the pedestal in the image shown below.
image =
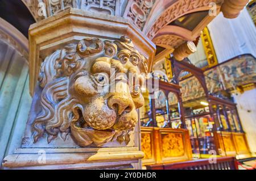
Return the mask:
<path fill-rule="evenodd" d="M 0 18 L 0 37 L 0 160 L 2 160 L 6 155 L 12 154 L 22 142 L 31 96 L 28 87 L 27 38 L 2 18 Z"/>

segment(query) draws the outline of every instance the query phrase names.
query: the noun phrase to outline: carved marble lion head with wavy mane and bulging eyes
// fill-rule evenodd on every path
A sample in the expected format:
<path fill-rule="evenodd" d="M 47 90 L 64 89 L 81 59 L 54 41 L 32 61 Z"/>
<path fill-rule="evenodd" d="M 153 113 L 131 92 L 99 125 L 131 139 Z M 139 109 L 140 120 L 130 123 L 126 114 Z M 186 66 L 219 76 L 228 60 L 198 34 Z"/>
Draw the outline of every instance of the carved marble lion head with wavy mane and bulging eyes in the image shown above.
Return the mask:
<path fill-rule="evenodd" d="M 42 110 L 32 125 L 34 142 L 44 134 L 50 142 L 71 133 L 80 146 L 129 141 L 143 106 L 140 92 L 146 59 L 129 37 L 102 41 L 85 38 L 48 56 L 39 86 Z M 127 81 L 130 75 L 138 84 Z M 114 86 L 113 86 L 114 85 Z"/>

